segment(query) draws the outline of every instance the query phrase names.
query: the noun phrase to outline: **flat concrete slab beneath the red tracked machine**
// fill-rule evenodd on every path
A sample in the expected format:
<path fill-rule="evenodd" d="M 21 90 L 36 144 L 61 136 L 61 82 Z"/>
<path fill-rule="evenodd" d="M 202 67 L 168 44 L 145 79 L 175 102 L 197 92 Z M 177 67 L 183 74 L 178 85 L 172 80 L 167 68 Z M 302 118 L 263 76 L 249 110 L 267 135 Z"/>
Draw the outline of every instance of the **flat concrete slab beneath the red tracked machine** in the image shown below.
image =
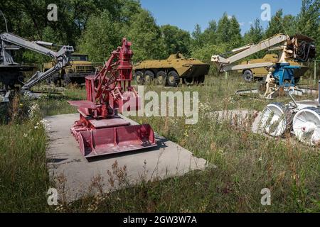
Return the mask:
<path fill-rule="evenodd" d="M 193 156 L 193 153 L 166 138 L 156 135 L 158 145 L 138 152 L 106 155 L 92 160 L 82 157 L 78 142 L 70 133 L 70 128 L 79 118 L 79 114 L 47 116 L 46 130 L 49 135 L 47 150 L 50 178 L 63 183 L 64 196 L 67 201 L 79 199 L 87 194 L 95 179 L 100 179 L 104 191 L 112 191 L 110 175 L 112 165 L 126 167 L 129 184 L 136 184 L 142 179 L 165 179 L 186 174 L 191 170 L 203 170 L 206 160 Z M 125 118 L 132 124 L 134 121 Z M 61 180 L 63 178 L 63 180 Z M 126 185 L 129 185 L 126 184 Z M 121 185 L 119 186 L 121 187 Z"/>

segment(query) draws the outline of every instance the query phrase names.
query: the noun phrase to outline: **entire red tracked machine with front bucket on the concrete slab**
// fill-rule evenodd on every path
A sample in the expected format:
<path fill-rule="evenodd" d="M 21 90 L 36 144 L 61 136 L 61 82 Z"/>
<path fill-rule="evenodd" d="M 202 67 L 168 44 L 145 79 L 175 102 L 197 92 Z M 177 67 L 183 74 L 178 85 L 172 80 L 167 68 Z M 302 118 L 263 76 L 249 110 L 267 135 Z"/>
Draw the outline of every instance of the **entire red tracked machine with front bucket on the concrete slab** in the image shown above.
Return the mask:
<path fill-rule="evenodd" d="M 131 86 L 131 43 L 122 39 L 122 46 L 111 56 L 100 72 L 85 78 L 86 101 L 69 101 L 78 106 L 80 120 L 71 128 L 85 157 L 140 150 L 156 145 L 149 124 L 131 125 L 118 113 L 137 111 L 140 99 Z M 124 104 L 129 104 L 124 109 Z"/>

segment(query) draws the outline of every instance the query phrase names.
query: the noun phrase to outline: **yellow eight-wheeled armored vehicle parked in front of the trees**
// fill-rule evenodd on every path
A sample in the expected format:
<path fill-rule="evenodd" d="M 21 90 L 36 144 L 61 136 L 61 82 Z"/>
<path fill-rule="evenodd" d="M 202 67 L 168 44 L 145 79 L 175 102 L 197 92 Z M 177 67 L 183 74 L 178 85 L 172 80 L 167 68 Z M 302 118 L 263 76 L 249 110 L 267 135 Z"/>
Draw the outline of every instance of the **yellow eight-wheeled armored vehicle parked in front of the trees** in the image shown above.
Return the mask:
<path fill-rule="evenodd" d="M 194 58 L 185 58 L 180 53 L 170 55 L 166 60 L 145 60 L 134 65 L 137 84 L 156 84 L 177 87 L 182 79 L 186 84 L 204 82 L 210 65 Z"/>

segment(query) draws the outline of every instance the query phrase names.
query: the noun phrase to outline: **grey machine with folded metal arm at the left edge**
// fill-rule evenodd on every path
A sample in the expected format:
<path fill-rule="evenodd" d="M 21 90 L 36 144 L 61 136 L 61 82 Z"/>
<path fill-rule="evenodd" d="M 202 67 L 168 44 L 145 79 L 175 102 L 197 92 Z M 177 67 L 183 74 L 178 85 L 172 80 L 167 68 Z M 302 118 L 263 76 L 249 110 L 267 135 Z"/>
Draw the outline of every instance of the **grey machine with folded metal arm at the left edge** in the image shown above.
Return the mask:
<path fill-rule="evenodd" d="M 55 52 L 46 48 L 45 46 L 58 47 L 60 50 Z M 13 51 L 25 48 L 34 52 L 41 53 L 52 57 L 55 61 L 55 65 L 46 72 L 36 72 L 28 79 L 26 83 L 23 82 L 23 70 L 26 70 L 27 66 L 20 65 L 14 62 Z M 43 41 L 28 41 L 14 35 L 12 33 L 0 34 L 0 82 L 2 89 L 0 89 L 0 102 L 8 102 L 10 92 L 20 89 L 22 94 L 33 96 L 30 89 L 36 84 L 42 82 L 48 77 L 52 76 L 63 67 L 70 65 L 70 55 L 74 52 L 72 46 L 68 45 L 55 45 L 54 43 L 48 43 Z M 18 85 L 18 86 L 17 86 Z M 20 85 L 20 87 L 19 87 Z"/>

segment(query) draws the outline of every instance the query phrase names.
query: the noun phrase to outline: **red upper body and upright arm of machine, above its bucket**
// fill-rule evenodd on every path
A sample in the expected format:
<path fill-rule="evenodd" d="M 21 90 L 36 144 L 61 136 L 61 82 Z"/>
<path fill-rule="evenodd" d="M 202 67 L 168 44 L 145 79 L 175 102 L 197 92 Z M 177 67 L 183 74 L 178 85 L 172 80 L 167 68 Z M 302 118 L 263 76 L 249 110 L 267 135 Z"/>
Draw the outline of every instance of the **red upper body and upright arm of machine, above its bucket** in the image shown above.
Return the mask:
<path fill-rule="evenodd" d="M 87 101 L 95 104 L 87 114 L 95 118 L 114 116 L 117 112 L 121 114 L 126 101 L 131 101 L 133 104 L 129 106 L 131 109 L 128 111 L 139 109 L 139 96 L 131 86 L 133 53 L 130 47 L 131 43 L 124 38 L 122 47 L 118 47 L 111 53 L 102 70 L 94 77 L 86 78 Z M 78 101 L 70 101 L 70 104 L 82 107 Z M 85 103 L 82 102 L 82 104 Z"/>

